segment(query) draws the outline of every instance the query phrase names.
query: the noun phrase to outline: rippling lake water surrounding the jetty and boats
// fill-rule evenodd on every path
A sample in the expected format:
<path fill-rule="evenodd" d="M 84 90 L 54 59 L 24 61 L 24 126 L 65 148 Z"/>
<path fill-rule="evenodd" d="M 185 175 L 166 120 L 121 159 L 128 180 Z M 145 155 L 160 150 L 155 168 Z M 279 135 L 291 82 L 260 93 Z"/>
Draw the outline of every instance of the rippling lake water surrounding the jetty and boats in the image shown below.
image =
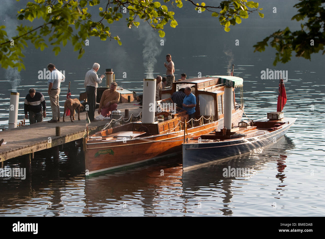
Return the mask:
<path fill-rule="evenodd" d="M 59 166 L 45 162 L 44 155 L 36 155 L 31 177 L 0 178 L 0 216 L 323 216 L 324 56 L 313 55 L 311 61 L 292 57 L 290 62 L 274 67 L 272 49 L 253 53 L 252 47 L 284 25 L 299 29 L 300 23 L 290 21 L 295 14 L 290 8 L 294 3 L 286 1 L 284 8 L 278 7 L 278 13 L 272 14 L 273 5 L 282 1 L 261 1 L 265 18 L 252 15 L 229 33 L 207 14 L 182 15 L 176 29 L 165 29 L 163 46 L 157 33 L 144 27 L 130 30 L 123 22 L 111 27 L 113 34 L 122 38 L 122 46 L 115 41 L 90 39 L 80 60 L 70 46 L 62 48 L 57 57 L 51 49 L 41 52 L 26 48 L 26 71 L 0 69 L 0 128 L 7 127 L 14 87 L 20 93 L 19 120 L 24 117 L 23 100 L 31 87 L 44 94 L 47 119 L 51 118 L 46 80 L 38 77 L 38 71 L 50 62 L 66 75 L 60 94 L 62 114 L 68 82 L 72 82 L 72 95 L 78 97 L 85 90 L 85 73 L 94 62 L 101 64 L 99 74 L 113 68 L 119 86 L 141 93 L 142 79 L 148 73 L 165 73 L 163 63 L 168 53 L 175 63 L 176 79 L 181 73 L 188 78 L 200 73 L 225 75 L 235 64 L 235 75 L 244 79 L 245 113 L 251 119 L 276 111 L 279 80 L 261 79 L 261 71 L 288 71 L 288 101 L 283 111 L 285 116 L 298 119 L 285 137 L 268 148 L 184 174 L 179 155 L 85 179 L 80 148 L 73 150 L 65 145 Z M 1 12 L 1 20 L 13 16 Z M 239 46 L 235 46 L 236 40 Z M 144 55 L 152 41 L 151 54 Z M 153 63 L 153 69 L 145 67 L 144 61 Z M 19 160 L 8 160 L 6 166 L 19 167 Z M 228 166 L 250 171 L 241 177 L 224 177 L 223 168 Z"/>

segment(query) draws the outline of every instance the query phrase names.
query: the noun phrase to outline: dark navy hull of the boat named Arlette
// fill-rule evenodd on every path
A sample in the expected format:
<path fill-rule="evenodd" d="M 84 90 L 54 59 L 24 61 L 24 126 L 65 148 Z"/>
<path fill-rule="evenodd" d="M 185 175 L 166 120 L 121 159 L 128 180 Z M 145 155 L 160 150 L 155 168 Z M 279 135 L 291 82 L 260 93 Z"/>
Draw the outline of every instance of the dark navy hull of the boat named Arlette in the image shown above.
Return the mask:
<path fill-rule="evenodd" d="M 251 138 L 240 138 L 219 142 L 198 142 L 182 144 L 183 171 L 188 171 L 211 164 L 215 161 L 229 159 L 243 153 L 273 144 L 282 137 L 296 118 L 286 118 L 289 124 L 284 124 L 275 131 L 267 132 Z M 262 119 L 263 120 L 263 119 Z"/>

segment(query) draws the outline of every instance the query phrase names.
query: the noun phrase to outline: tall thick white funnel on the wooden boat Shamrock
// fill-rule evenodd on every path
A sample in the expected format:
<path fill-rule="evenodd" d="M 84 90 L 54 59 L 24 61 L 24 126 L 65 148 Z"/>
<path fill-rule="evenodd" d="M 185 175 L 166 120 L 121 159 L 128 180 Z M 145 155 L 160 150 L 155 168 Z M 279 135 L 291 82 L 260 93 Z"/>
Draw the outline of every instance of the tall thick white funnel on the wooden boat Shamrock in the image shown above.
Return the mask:
<path fill-rule="evenodd" d="M 156 79 L 143 79 L 142 123 L 155 122 Z"/>

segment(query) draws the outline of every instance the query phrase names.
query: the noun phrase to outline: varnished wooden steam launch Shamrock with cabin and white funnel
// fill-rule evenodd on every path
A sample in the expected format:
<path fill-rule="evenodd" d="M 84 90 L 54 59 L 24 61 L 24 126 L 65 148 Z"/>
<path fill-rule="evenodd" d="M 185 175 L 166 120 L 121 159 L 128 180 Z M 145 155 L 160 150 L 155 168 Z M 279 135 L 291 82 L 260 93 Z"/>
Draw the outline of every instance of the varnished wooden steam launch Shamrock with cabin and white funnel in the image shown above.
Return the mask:
<path fill-rule="evenodd" d="M 149 108 L 152 104 L 157 104 L 156 80 L 144 79 L 142 120 L 102 130 L 86 138 L 86 175 L 100 174 L 180 153 L 185 134 L 185 119 L 188 138 L 223 128 L 225 85 L 242 86 L 242 83 L 242 78 L 234 76 L 207 76 L 177 81 L 170 89 L 163 90 L 164 100 L 158 101 L 162 107 L 158 107 L 155 112 Z M 187 86 L 191 87 L 197 100 L 195 118 L 198 120 L 194 122 L 188 121 L 187 111 L 178 107 L 175 109 L 170 98 L 172 93 Z M 231 105 L 232 123 L 237 125 L 241 120 L 242 110 L 235 101 L 234 89 L 231 94 L 231 102 L 228 103 Z"/>

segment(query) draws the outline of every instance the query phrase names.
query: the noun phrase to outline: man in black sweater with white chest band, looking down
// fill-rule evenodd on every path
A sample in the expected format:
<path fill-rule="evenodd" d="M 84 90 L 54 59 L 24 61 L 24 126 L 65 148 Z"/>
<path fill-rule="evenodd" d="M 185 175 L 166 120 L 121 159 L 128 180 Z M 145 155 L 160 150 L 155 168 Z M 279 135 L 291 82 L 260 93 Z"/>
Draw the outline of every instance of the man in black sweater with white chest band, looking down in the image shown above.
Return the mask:
<path fill-rule="evenodd" d="M 43 106 L 43 110 L 42 110 Z M 29 112 L 29 124 L 35 124 L 36 122 L 42 122 L 43 117 L 46 117 L 45 113 L 46 103 L 44 96 L 41 92 L 36 92 L 35 89 L 29 89 L 29 94 L 25 98 L 24 112 L 25 118 L 28 119 Z"/>

